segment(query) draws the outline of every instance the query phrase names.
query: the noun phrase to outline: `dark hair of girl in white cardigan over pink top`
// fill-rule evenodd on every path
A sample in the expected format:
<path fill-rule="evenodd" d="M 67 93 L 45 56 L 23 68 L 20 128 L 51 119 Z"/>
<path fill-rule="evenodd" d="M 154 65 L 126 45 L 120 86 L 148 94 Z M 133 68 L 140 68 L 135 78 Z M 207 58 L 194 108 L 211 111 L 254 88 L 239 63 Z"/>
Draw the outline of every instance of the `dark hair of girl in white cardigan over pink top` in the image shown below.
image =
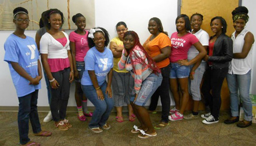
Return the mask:
<path fill-rule="evenodd" d="M 44 26 L 47 27 L 49 30 L 51 29 L 51 24 L 49 23 L 50 16 L 54 13 L 58 13 L 61 16 L 61 26 L 64 24 L 64 16 L 63 12 L 58 9 L 50 9 L 45 12 L 45 16 L 43 18 Z"/>

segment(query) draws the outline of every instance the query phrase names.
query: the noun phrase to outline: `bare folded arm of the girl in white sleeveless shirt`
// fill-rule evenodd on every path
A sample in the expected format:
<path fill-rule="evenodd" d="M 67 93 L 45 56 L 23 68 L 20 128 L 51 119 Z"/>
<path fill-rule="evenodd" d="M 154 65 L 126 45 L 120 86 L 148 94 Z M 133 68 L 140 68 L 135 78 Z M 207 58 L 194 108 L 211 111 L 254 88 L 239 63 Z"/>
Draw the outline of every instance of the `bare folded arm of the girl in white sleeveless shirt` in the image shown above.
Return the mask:
<path fill-rule="evenodd" d="M 247 32 L 245 35 L 245 43 L 241 53 L 234 53 L 234 59 L 245 59 L 252 48 L 252 44 L 254 43 L 254 36 L 251 32 Z"/>

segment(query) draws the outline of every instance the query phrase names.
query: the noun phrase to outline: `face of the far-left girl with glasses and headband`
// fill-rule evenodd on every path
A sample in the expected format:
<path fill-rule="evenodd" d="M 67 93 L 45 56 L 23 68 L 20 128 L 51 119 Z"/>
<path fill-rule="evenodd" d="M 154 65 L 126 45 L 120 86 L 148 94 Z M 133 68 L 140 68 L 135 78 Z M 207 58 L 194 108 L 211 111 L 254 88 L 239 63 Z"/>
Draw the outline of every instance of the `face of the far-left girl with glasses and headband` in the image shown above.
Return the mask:
<path fill-rule="evenodd" d="M 29 16 L 25 13 L 18 13 L 13 19 L 13 23 L 15 23 L 16 28 L 20 30 L 25 30 L 29 26 Z"/>

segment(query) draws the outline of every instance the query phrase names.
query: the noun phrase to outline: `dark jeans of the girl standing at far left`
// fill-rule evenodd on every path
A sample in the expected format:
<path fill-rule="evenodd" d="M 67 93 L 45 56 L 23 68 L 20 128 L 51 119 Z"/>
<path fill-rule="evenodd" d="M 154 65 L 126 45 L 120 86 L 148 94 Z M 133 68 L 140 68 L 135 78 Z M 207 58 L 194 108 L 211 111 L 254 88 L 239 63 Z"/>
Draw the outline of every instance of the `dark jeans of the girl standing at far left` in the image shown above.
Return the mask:
<path fill-rule="evenodd" d="M 30 141 L 29 120 L 33 129 L 33 133 L 41 132 L 41 125 L 37 113 L 37 98 L 38 90 L 19 97 L 19 112 L 18 112 L 18 128 L 19 128 L 19 143 L 26 144 Z"/>

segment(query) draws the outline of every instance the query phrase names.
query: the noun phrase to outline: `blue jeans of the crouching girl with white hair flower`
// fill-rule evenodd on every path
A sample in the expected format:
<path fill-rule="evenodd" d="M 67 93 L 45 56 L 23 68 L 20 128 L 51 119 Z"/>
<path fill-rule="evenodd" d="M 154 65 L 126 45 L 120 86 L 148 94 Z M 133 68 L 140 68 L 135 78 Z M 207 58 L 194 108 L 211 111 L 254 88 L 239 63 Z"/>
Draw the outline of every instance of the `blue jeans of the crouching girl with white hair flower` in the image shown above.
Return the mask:
<path fill-rule="evenodd" d="M 114 107 L 113 98 L 108 98 L 108 95 L 105 94 L 107 88 L 107 82 L 105 81 L 100 85 L 100 89 L 104 95 L 104 100 L 98 99 L 96 90 L 93 85 L 82 85 L 82 91 L 84 91 L 85 96 L 92 102 L 95 106 L 93 116 L 89 122 L 90 128 L 102 127 L 106 124 L 109 114 L 111 113 Z"/>

